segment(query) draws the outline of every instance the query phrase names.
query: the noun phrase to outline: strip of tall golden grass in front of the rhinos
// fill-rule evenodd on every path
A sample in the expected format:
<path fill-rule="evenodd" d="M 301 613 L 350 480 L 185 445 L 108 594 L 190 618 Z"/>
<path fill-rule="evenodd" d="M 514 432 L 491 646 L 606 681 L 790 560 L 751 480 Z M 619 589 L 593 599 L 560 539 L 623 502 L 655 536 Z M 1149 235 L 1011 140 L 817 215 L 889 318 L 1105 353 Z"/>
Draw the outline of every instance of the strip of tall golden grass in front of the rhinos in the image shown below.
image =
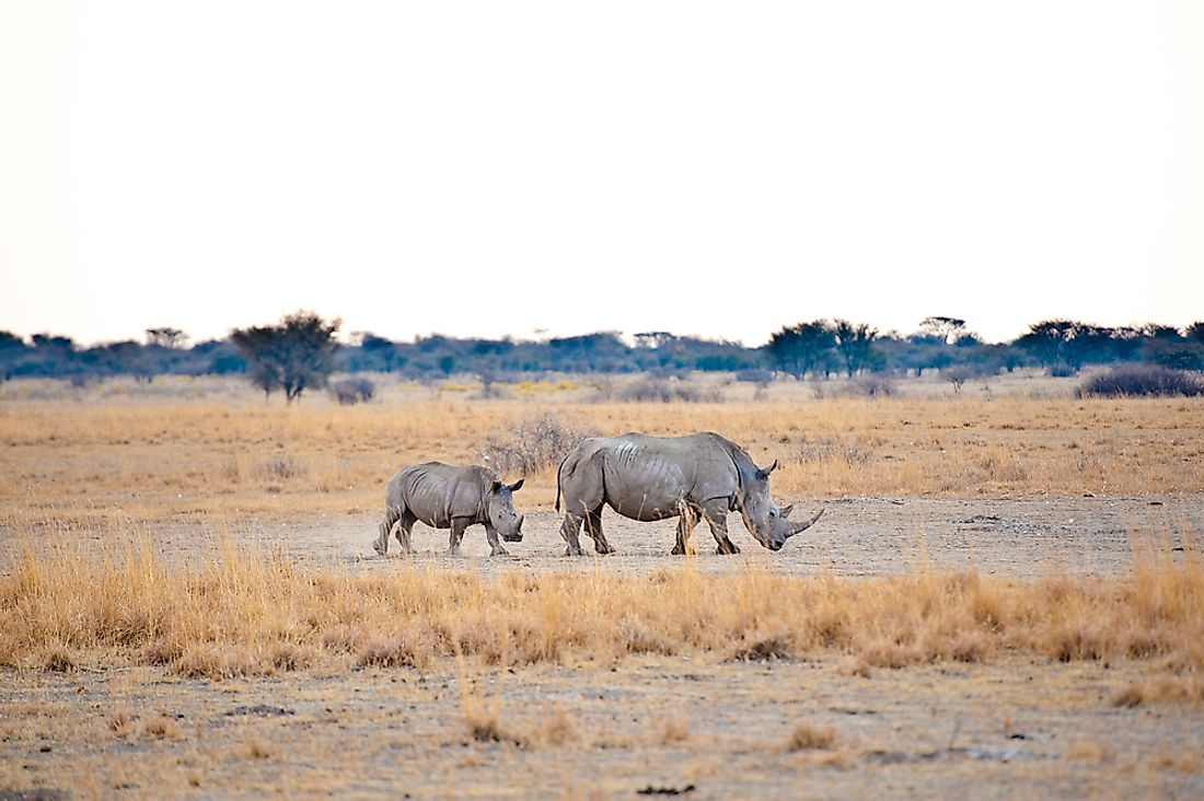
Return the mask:
<path fill-rule="evenodd" d="M 1137 701 L 1204 701 L 1204 564 L 1141 558 L 1132 577 L 1038 581 L 975 573 L 799 578 L 704 575 L 690 563 L 486 578 L 400 567 L 389 576 L 299 566 L 217 541 L 188 567 L 126 541 L 101 555 L 29 543 L 0 577 L 0 658 L 23 670 L 161 665 L 223 678 L 307 667 L 496 665 L 844 655 L 851 670 L 1015 653 L 1140 660 L 1159 684 Z M 1121 700 L 1121 702 L 1131 702 Z"/>

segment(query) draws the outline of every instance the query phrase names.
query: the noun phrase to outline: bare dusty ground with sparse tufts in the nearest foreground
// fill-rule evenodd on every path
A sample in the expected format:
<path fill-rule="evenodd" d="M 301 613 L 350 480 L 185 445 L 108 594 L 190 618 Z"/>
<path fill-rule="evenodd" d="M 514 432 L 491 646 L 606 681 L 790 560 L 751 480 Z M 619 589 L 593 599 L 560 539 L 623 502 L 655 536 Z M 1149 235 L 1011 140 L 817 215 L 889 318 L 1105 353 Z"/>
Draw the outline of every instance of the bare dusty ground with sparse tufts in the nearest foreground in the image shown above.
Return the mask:
<path fill-rule="evenodd" d="M 5 677 L 0 787 L 63 796 L 1199 797 L 1204 715 L 1117 707 L 1131 667 L 843 670 L 627 659 L 224 683 Z M 465 682 L 496 714 L 461 714 Z M 816 747 L 792 750 L 797 725 Z M 496 735 L 500 741 L 491 737 Z M 33 797 L 7 795 L 6 797 Z"/>

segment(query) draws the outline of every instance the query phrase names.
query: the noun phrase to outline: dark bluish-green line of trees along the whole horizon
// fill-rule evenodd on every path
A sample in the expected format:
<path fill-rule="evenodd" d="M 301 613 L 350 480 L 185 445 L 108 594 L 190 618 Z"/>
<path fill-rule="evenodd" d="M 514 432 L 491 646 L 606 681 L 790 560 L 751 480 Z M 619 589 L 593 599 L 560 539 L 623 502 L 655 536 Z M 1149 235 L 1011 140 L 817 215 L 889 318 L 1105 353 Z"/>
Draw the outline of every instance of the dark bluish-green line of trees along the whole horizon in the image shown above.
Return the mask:
<path fill-rule="evenodd" d="M 916 375 L 940 370 L 958 377 L 996 375 L 1040 366 L 1051 375 L 1074 375 L 1094 364 L 1156 364 L 1204 370 L 1204 322 L 1108 328 L 1079 320 L 1033 323 L 1022 336 L 1002 343 L 980 340 L 955 317 L 928 317 L 910 335 L 881 334 L 866 323 L 815 319 L 785 325 L 761 347 L 738 342 L 643 331 L 624 338 L 614 331 L 550 340 L 456 338 L 442 335 L 396 342 L 358 334 L 336 341 L 340 320 L 296 312 L 279 323 L 236 329 L 224 340 L 189 344 L 173 328 L 147 329 L 143 342 L 82 347 L 70 337 L 36 334 L 29 340 L 0 331 L 0 378 L 52 377 L 73 383 L 108 376 L 153 381 L 161 375 L 246 375 L 266 393 L 289 400 L 323 385 L 338 372 L 395 373 L 435 381 L 473 373 L 486 383 L 544 372 L 728 371 L 750 381 L 774 375 L 825 378 L 858 373 Z"/>

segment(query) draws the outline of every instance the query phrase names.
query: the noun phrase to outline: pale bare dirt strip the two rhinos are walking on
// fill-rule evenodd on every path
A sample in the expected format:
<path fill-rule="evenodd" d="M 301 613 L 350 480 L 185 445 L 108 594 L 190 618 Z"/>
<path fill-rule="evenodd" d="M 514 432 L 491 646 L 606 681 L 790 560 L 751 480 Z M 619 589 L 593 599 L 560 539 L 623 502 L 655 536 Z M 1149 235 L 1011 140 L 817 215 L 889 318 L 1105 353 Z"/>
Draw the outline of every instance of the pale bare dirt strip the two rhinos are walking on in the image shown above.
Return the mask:
<path fill-rule="evenodd" d="M 517 496 L 521 510 L 521 495 Z M 938 571 L 976 570 L 985 575 L 1039 577 L 1051 575 L 1117 575 L 1133 567 L 1138 553 L 1153 549 L 1179 558 L 1182 548 L 1198 544 L 1204 535 L 1204 495 L 1146 497 L 1013 497 L 1013 499 L 885 499 L 851 497 L 834 501 L 798 501 L 793 512 L 825 508 L 811 529 L 790 540 L 774 554 L 745 531 L 739 514 L 728 517 L 732 541 L 742 549 L 734 558 L 714 553 L 706 524 L 691 543 L 698 556 L 692 564 L 704 571 L 752 567 L 773 572 L 815 576 L 886 576 L 929 567 Z M 613 570 L 648 573 L 684 563 L 668 556 L 675 520 L 635 523 L 607 511 L 603 526 L 618 553 L 594 558 L 590 541 L 582 546 L 591 556 L 562 556 L 560 516 L 527 512 L 523 542 L 506 543 L 508 556 L 490 558 L 485 532 L 468 529 L 462 556 L 445 554 L 447 531 L 414 526 L 418 554 L 403 558 L 396 540 L 388 559 L 372 550 L 379 518 L 371 514 L 321 518 L 308 523 L 229 522 L 173 523 L 134 526 L 165 553 L 189 558 L 207 549 L 214 536 L 230 534 L 266 548 L 281 548 L 299 561 L 353 571 L 388 571 L 400 560 L 432 569 L 478 570 Z M 2 531 L 2 528 L 0 528 Z M 43 536 L 64 536 L 49 535 Z M 65 536 L 71 536 L 70 532 Z M 100 534 L 85 536 L 101 537 Z M 7 549 L 11 555 L 11 549 Z"/>

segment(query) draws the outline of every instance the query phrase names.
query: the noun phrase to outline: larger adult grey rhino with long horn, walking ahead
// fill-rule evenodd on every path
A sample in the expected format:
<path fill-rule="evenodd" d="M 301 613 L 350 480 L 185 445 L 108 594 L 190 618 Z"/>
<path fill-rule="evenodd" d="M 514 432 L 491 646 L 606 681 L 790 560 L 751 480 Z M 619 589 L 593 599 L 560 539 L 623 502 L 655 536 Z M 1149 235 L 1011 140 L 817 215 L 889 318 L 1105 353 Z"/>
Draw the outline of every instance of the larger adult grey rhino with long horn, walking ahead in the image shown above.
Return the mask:
<path fill-rule="evenodd" d="M 727 536 L 727 513 L 739 511 L 749 534 L 769 550 L 810 528 L 824 514 L 820 508 L 809 520 L 789 519 L 793 505 L 779 510 L 769 496 L 769 473 L 778 463 L 757 467 L 740 446 L 718 434 L 680 437 L 624 434 L 616 437 L 582 440 L 560 464 L 556 475 L 556 511 L 565 499 L 565 520 L 560 536 L 568 547 L 565 555 L 580 555 L 577 532 L 594 537 L 600 554 L 614 548 L 602 532 L 602 507 L 608 505 L 632 520 L 678 518 L 673 554 L 684 554 L 690 534 L 704 519 L 720 554 L 739 553 Z"/>

